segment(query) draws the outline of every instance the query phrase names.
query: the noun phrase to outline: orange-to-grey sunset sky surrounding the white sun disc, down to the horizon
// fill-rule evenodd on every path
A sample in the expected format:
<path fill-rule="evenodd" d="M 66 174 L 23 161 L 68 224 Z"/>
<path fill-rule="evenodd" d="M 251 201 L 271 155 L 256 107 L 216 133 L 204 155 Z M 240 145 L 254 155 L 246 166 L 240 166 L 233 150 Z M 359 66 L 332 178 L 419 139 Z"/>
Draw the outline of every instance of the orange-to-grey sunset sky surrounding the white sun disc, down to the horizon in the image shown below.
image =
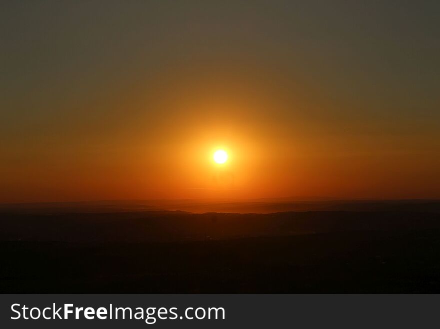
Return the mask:
<path fill-rule="evenodd" d="M 439 17 L 437 1 L 2 2 L 0 202 L 439 198 Z"/>

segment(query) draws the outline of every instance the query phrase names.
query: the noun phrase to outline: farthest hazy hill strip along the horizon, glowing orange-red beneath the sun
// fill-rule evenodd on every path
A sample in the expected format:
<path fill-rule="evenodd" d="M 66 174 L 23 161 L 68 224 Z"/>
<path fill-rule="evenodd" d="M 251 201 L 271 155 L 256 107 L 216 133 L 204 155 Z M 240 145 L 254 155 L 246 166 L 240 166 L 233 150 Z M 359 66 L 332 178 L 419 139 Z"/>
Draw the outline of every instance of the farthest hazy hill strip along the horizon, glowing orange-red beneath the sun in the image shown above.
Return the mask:
<path fill-rule="evenodd" d="M 0 212 L 110 213 L 128 211 L 186 211 L 192 213 L 274 213 L 287 211 L 403 211 L 440 213 L 438 200 L 121 200 L 0 204 Z"/>

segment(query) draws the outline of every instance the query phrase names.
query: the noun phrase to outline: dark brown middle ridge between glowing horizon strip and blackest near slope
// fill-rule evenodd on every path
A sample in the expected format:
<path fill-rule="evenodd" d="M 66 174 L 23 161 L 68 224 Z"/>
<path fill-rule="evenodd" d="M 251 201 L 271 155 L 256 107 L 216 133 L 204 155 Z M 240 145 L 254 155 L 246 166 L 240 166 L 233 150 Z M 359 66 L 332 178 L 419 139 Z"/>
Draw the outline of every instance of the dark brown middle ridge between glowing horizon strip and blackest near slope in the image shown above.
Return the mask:
<path fill-rule="evenodd" d="M 227 214 L 150 211 L 2 214 L 0 240 L 169 242 L 350 231 L 440 229 L 440 214 L 309 211 Z"/>

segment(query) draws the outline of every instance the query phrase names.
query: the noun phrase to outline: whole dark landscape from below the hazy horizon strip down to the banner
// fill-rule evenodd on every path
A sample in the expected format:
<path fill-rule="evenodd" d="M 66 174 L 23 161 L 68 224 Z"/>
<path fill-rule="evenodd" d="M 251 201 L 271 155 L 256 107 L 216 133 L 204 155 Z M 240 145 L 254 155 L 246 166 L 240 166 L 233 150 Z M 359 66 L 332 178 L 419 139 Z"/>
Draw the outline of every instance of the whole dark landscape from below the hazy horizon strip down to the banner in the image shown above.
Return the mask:
<path fill-rule="evenodd" d="M 376 206 L 269 214 L 4 207 L 0 291 L 440 292 L 439 203 Z"/>

